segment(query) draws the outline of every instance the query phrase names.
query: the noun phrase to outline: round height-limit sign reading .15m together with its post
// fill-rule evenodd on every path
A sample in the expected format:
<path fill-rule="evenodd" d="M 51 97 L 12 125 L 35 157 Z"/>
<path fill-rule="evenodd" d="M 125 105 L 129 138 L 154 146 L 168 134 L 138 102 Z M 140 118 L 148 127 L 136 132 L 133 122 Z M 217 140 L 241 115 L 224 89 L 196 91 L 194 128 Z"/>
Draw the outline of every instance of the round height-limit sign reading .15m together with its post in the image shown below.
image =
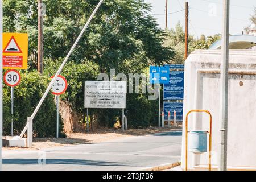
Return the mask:
<path fill-rule="evenodd" d="M 52 76 L 51 78 L 53 78 Z M 56 138 L 59 138 L 59 100 L 60 95 L 65 93 L 68 88 L 68 82 L 65 77 L 59 75 L 56 80 L 52 84 L 52 94 L 55 95 L 56 98 L 56 111 L 57 111 L 57 119 L 56 119 Z"/>

